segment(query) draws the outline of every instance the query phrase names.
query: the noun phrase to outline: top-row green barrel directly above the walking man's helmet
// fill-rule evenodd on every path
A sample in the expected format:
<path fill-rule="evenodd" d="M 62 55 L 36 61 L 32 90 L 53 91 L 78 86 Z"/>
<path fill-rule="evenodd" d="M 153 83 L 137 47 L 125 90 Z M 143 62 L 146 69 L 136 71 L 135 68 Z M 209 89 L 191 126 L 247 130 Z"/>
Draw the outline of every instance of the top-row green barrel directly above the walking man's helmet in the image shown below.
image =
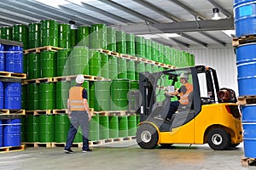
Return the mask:
<path fill-rule="evenodd" d="M 77 31 L 77 45 L 90 47 L 90 26 L 79 26 Z"/>

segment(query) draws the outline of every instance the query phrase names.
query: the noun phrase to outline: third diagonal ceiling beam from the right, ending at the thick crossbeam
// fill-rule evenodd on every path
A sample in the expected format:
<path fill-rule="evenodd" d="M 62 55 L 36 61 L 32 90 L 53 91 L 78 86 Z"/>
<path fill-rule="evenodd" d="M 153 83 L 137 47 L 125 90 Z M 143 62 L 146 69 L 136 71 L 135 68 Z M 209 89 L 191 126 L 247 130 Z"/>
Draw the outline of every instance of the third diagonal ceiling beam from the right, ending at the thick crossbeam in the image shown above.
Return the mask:
<path fill-rule="evenodd" d="M 161 14 L 161 15 L 165 16 L 166 18 L 170 19 L 170 20 L 173 20 L 175 22 L 181 21 L 179 18 L 177 18 L 173 14 L 167 13 L 162 8 L 158 8 L 157 6 L 152 5 L 151 3 L 148 3 L 145 0 L 132 0 L 132 1 L 134 1 L 135 3 L 141 4 L 146 8 L 150 8 L 150 9 L 154 10 L 155 12 L 157 12 L 158 14 Z"/>

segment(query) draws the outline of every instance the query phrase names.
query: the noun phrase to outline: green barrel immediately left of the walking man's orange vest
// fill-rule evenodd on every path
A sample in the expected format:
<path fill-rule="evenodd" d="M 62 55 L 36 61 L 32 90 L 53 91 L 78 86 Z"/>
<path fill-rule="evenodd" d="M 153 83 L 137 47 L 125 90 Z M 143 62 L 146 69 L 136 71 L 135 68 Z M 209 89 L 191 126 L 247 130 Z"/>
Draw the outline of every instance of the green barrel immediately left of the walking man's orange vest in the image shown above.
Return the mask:
<path fill-rule="evenodd" d="M 67 109 L 70 82 L 56 82 L 56 108 Z"/>

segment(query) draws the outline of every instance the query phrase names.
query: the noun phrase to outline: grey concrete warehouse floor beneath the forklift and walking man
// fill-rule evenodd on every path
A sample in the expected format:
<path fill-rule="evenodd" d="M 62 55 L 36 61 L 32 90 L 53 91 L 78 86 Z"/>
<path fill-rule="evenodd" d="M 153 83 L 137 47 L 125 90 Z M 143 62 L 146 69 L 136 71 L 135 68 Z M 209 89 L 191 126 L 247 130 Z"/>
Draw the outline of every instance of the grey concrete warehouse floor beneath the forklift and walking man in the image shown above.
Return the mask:
<path fill-rule="evenodd" d="M 1 170 L 65 170 L 65 169 L 104 169 L 104 170 L 241 170 L 256 169 L 241 165 L 243 148 L 236 150 L 212 150 L 207 144 L 175 144 L 171 149 L 157 148 L 143 150 L 135 140 L 114 142 L 91 147 L 91 153 L 82 153 L 73 147 L 74 154 L 63 153 L 63 148 L 26 148 L 24 151 L 0 154 Z"/>

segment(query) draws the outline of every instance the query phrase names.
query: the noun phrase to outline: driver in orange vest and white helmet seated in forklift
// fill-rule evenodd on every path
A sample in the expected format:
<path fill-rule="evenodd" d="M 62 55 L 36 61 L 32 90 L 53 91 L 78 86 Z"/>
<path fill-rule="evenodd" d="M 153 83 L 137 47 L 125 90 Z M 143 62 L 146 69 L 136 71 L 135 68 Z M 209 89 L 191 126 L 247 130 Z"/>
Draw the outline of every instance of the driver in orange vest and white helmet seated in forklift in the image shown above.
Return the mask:
<path fill-rule="evenodd" d="M 183 85 L 174 92 L 165 92 L 168 95 L 175 95 L 177 96 L 179 94 L 180 99 L 178 101 L 172 101 L 170 103 L 170 108 L 168 111 L 168 114 L 166 116 L 166 119 L 171 120 L 172 115 L 177 111 L 179 105 L 188 105 L 189 102 L 189 94 L 193 92 L 193 85 L 188 82 L 189 75 L 187 73 L 182 73 L 180 75 L 180 82 L 183 83 Z"/>

